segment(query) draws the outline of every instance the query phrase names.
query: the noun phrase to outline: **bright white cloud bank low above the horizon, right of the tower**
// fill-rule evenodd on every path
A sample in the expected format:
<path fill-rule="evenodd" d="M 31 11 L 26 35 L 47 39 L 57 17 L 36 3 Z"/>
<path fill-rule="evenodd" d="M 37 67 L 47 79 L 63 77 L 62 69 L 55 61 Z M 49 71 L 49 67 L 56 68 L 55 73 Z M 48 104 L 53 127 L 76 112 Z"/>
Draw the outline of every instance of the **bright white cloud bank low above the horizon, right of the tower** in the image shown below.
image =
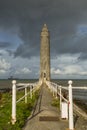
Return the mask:
<path fill-rule="evenodd" d="M 51 60 L 51 75 L 52 77 L 84 77 L 87 76 L 87 61 L 78 61 L 80 54 L 60 55 Z"/>

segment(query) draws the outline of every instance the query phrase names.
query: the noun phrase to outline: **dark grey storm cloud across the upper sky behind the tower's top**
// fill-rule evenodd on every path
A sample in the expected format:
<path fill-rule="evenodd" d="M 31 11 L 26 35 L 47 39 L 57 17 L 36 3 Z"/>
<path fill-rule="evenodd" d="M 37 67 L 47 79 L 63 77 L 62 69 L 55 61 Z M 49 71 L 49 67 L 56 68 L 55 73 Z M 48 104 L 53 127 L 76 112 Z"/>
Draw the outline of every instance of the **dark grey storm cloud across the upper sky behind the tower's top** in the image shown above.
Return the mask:
<path fill-rule="evenodd" d="M 75 39 L 77 27 L 87 24 L 87 0 L 0 0 L 0 26 L 5 29 L 18 27 L 23 41 L 15 57 L 39 55 L 40 31 L 44 23 L 51 34 L 52 55 L 81 53 L 84 57 L 87 38 Z"/>

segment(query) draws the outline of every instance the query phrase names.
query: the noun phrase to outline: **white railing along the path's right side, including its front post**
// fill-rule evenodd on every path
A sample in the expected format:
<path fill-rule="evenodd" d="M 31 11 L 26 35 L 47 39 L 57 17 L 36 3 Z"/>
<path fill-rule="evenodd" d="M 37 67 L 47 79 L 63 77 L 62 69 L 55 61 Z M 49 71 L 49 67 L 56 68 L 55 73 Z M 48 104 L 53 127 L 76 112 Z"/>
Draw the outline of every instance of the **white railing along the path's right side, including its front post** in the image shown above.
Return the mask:
<path fill-rule="evenodd" d="M 69 86 L 68 87 L 63 87 L 59 86 L 56 83 L 46 81 L 47 86 L 53 92 L 53 96 L 56 94 L 60 96 L 60 111 L 61 111 L 61 104 L 62 104 L 62 99 L 68 104 L 68 110 L 69 110 L 69 130 L 74 130 L 74 123 L 73 123 L 73 106 L 76 107 L 76 105 L 73 105 L 73 94 L 72 94 L 72 89 L 83 89 L 87 90 L 87 87 L 72 87 L 72 81 L 68 81 Z M 63 97 L 62 95 L 62 89 L 68 90 L 68 99 Z M 81 114 L 81 111 L 78 109 L 78 112 Z M 85 114 L 83 114 L 84 116 Z M 85 115 L 85 118 L 87 116 Z"/>

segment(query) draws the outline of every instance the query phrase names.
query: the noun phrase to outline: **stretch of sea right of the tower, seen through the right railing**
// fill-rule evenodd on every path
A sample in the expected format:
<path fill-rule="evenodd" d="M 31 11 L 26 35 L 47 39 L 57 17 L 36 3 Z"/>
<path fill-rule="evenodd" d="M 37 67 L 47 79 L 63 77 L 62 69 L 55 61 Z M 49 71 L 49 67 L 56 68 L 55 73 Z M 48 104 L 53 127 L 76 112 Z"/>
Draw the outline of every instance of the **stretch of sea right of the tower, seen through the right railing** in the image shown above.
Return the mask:
<path fill-rule="evenodd" d="M 53 82 L 68 87 L 69 79 L 53 80 Z M 79 87 L 87 87 L 87 79 L 72 79 L 72 87 L 78 87 L 73 90 L 73 99 L 80 100 L 87 105 L 87 89 L 79 89 Z"/>

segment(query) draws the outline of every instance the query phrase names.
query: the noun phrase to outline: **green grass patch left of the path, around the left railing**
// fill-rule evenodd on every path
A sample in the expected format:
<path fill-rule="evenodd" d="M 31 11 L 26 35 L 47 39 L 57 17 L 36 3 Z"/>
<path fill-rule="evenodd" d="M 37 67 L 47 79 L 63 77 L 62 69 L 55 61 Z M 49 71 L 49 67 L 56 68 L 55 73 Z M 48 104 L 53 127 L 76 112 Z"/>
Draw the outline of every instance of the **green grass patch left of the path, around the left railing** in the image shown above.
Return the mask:
<path fill-rule="evenodd" d="M 17 93 L 18 97 L 23 95 L 23 91 Z M 0 94 L 0 130 L 21 130 L 25 124 L 27 117 L 29 117 L 35 100 L 38 98 L 39 91 L 33 94 L 31 99 L 28 96 L 28 102 L 25 104 L 24 100 L 17 103 L 17 121 L 15 125 L 11 124 L 11 109 L 12 109 L 12 95 L 11 93 Z"/>

